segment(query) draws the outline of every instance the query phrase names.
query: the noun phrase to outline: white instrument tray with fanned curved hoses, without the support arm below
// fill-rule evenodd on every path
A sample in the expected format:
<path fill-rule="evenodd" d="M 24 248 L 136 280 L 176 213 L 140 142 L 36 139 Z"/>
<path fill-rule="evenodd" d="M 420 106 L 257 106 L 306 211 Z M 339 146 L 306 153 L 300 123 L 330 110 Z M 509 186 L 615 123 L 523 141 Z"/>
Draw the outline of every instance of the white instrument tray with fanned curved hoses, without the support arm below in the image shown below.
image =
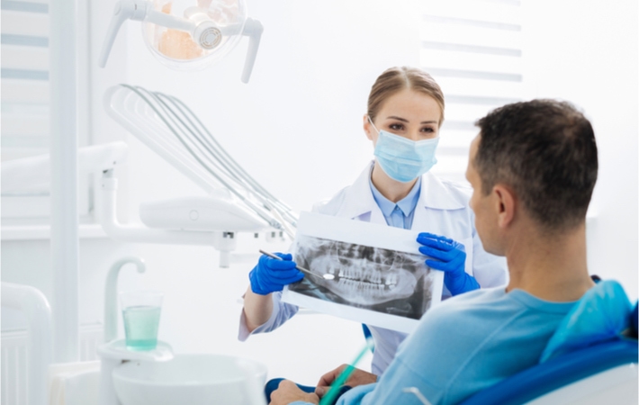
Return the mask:
<path fill-rule="evenodd" d="M 109 115 L 209 193 L 140 206 L 152 228 L 260 231 L 293 238 L 297 216 L 257 183 L 220 146 L 195 114 L 173 96 L 115 85 L 104 94 Z"/>

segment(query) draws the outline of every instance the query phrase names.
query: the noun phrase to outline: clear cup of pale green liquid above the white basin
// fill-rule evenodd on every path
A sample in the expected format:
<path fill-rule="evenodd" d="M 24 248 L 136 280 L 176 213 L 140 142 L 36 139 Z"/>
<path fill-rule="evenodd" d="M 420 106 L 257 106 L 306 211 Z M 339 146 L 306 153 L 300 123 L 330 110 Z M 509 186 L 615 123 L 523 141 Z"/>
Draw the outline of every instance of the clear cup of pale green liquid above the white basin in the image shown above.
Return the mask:
<path fill-rule="evenodd" d="M 162 296 L 157 291 L 120 293 L 124 336 L 129 350 L 139 352 L 156 348 Z"/>

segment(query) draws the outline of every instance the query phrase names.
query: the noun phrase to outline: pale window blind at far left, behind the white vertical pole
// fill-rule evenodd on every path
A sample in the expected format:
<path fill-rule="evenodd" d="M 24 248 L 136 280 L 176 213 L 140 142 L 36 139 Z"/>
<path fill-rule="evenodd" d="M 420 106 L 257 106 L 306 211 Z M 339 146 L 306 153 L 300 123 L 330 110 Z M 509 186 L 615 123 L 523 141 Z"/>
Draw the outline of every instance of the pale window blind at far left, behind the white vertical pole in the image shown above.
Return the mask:
<path fill-rule="evenodd" d="M 77 2 L 85 13 L 86 2 Z M 1 0 L 0 85 L 2 121 L 0 142 L 2 161 L 49 153 L 49 0 Z M 82 21 L 82 19 L 80 19 Z M 88 31 L 81 22 L 76 32 Z M 85 38 L 86 35 L 79 35 Z M 85 40 L 78 41 L 78 77 L 85 85 L 78 94 L 79 144 L 88 143 L 88 50 Z M 90 182 L 80 176 L 79 210 L 90 212 Z M 49 186 L 2 193 L 3 224 L 47 221 L 50 211 Z"/>

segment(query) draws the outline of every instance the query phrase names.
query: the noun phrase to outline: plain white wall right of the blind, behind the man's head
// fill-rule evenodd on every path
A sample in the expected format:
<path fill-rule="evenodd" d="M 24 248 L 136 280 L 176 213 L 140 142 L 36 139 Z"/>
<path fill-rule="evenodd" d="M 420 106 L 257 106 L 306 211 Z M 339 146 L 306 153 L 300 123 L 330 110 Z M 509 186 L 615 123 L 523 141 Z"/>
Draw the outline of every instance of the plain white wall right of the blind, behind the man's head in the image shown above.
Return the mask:
<path fill-rule="evenodd" d="M 585 112 L 599 148 L 590 203 L 591 274 L 612 278 L 637 298 L 637 2 L 526 1 L 529 96 L 571 101 Z"/>

